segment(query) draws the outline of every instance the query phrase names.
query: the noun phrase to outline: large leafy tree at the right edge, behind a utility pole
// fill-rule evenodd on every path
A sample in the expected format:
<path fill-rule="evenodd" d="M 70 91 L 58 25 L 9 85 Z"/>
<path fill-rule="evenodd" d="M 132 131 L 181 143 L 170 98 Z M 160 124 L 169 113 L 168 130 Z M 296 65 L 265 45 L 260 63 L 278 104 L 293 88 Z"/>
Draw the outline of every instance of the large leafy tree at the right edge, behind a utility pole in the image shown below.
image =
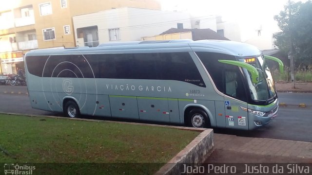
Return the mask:
<path fill-rule="evenodd" d="M 291 6 L 291 9 L 289 7 Z M 274 44 L 288 54 L 290 52 L 290 39 L 293 43 L 293 58 L 295 65 L 312 64 L 312 1 L 305 3 L 291 2 L 284 6 L 279 15 L 274 16 L 281 32 L 274 34 Z M 289 12 L 292 12 L 290 18 Z"/>

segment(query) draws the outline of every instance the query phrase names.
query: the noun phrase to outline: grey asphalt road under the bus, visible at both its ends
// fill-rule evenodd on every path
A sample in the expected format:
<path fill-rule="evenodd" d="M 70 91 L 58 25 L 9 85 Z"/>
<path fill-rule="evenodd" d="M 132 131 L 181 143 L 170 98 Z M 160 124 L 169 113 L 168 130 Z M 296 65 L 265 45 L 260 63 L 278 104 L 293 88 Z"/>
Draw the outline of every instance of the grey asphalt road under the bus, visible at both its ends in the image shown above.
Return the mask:
<path fill-rule="evenodd" d="M 61 115 L 32 109 L 26 93 L 26 87 L 0 86 L 0 111 L 38 115 Z M 278 95 L 280 102 L 292 105 L 286 107 L 280 106 L 278 116 L 267 126 L 249 132 L 228 129 L 215 129 L 214 132 L 242 137 L 312 142 L 312 93 L 278 93 Z M 307 107 L 300 108 L 297 106 L 299 103 L 306 103 Z"/>

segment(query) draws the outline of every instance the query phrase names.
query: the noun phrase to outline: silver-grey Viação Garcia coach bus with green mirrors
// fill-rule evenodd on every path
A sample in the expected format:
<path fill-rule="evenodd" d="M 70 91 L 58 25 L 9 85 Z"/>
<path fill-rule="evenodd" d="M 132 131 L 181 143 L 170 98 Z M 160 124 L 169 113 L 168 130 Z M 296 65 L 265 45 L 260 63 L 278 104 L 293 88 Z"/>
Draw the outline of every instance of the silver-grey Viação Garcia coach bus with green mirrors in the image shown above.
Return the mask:
<path fill-rule="evenodd" d="M 25 55 L 33 108 L 80 115 L 252 130 L 277 115 L 267 60 L 227 40 L 104 43 Z"/>

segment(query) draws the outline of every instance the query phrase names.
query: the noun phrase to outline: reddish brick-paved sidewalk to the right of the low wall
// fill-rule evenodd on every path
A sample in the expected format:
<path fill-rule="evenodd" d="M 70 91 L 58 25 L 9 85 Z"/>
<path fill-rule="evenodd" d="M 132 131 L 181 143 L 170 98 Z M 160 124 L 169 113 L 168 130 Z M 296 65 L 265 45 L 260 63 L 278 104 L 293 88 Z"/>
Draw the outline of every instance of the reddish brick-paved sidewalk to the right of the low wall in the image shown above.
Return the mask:
<path fill-rule="evenodd" d="M 312 163 L 312 142 L 214 134 L 205 163 Z"/>

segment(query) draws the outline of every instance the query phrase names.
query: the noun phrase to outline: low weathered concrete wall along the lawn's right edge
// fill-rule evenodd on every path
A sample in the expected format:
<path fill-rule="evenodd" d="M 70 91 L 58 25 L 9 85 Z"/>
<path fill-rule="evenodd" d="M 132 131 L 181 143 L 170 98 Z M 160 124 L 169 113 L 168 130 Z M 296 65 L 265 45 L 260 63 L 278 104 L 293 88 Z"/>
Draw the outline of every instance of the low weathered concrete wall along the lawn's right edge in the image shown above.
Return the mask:
<path fill-rule="evenodd" d="M 206 129 L 190 144 L 159 169 L 155 175 L 179 175 L 184 165 L 200 164 L 214 151 L 214 130 Z"/>

